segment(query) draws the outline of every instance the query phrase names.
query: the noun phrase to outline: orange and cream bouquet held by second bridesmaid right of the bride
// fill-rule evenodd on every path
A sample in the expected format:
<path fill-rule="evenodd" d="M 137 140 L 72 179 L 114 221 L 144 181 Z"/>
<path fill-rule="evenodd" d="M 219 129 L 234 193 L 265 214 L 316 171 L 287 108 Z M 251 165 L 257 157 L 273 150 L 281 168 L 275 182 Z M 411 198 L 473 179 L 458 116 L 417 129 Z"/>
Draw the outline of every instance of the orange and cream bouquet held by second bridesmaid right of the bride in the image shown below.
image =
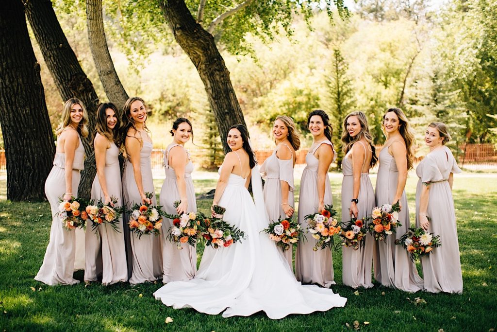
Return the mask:
<path fill-rule="evenodd" d="M 333 235 L 338 234 L 341 230 L 338 221 L 333 218 L 334 216 L 336 216 L 336 211 L 333 206 L 326 205 L 323 211 L 305 217 L 308 223 L 307 232 L 318 240 L 312 248 L 314 251 L 318 251 L 318 248 L 324 249 L 326 247 L 331 250 L 334 243 Z"/>

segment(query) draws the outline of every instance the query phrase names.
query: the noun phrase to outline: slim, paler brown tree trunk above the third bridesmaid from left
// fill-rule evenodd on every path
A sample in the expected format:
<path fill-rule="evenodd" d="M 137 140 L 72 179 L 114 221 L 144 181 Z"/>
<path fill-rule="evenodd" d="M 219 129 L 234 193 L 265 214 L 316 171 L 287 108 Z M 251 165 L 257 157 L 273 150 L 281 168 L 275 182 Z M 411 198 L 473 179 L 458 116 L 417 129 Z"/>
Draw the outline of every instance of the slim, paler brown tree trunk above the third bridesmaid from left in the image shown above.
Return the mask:
<path fill-rule="evenodd" d="M 86 0 L 86 26 L 96 71 L 110 102 L 122 110 L 128 100 L 110 57 L 103 29 L 102 0 Z"/>

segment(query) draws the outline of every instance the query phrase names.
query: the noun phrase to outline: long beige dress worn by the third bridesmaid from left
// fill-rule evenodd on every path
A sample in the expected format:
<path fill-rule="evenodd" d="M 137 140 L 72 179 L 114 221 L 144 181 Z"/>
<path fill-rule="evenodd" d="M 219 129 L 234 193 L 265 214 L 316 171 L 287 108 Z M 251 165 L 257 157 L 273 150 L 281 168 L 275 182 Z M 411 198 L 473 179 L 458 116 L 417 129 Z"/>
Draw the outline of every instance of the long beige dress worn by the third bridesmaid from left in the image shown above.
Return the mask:
<path fill-rule="evenodd" d="M 154 180 L 152 179 L 151 154 L 152 143 L 143 140 L 143 146 L 140 150 L 140 171 L 142 173 L 143 190 L 146 193 L 152 193 L 152 205 L 157 205 Z M 135 203 L 142 203 L 135 181 L 135 174 L 133 173 L 133 164 L 131 164 L 129 159 L 125 162 L 122 185 L 123 200 L 128 209 Z M 130 265 L 130 260 L 132 263 L 129 282 L 132 285 L 141 284 L 146 281 L 154 282 L 161 277 L 163 270 L 161 237 L 153 234 L 144 234 L 139 238 L 135 232 L 130 232 L 127 221 L 128 218 L 125 218 L 124 234 L 125 236 L 127 234 L 130 243 L 129 246 L 131 247 L 127 248 L 128 266 Z"/>

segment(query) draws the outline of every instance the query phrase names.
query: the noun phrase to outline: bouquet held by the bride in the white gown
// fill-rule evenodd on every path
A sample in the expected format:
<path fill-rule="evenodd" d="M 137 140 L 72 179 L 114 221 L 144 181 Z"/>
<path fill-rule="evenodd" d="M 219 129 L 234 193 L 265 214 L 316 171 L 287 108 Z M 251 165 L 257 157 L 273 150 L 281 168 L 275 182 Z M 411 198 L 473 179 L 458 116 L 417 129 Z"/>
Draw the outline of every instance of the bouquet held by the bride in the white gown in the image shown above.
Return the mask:
<path fill-rule="evenodd" d="M 217 249 L 241 242 L 241 239 L 245 238 L 245 233 L 223 220 L 226 209 L 219 205 L 214 205 L 212 209 L 215 216 L 205 219 L 205 227 L 201 231 L 202 237 L 206 241 L 205 245 Z"/>

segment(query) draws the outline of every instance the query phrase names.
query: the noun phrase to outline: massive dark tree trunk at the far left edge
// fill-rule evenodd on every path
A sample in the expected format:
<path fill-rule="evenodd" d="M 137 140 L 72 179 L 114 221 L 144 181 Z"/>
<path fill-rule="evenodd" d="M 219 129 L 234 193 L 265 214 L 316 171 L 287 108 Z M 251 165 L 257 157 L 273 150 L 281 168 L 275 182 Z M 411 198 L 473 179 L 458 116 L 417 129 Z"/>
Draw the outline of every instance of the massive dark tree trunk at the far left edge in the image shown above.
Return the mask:
<path fill-rule="evenodd" d="M 29 39 L 24 7 L 0 10 L 0 122 L 7 159 L 7 199 L 41 201 L 55 154 L 40 65 Z"/>

